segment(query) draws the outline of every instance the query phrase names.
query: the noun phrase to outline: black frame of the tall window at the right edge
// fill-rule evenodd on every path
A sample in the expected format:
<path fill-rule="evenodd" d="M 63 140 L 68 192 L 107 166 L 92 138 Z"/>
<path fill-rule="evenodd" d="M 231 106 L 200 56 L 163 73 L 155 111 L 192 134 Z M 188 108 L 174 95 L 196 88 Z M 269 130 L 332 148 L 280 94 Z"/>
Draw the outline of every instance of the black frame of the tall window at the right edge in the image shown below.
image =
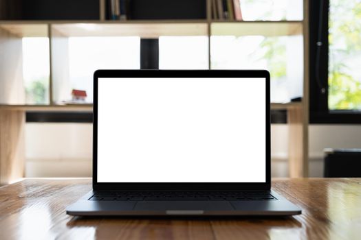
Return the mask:
<path fill-rule="evenodd" d="M 309 123 L 361 123 L 361 111 L 329 110 L 329 0 L 309 1 Z"/>

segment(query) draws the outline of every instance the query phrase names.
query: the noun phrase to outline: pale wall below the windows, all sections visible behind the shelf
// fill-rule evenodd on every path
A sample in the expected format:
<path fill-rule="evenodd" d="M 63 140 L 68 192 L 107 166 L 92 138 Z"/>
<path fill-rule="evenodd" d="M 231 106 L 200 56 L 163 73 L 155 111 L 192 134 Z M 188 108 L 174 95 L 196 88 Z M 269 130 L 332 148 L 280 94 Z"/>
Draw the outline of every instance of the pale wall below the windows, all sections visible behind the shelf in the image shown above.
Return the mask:
<path fill-rule="evenodd" d="M 271 127 L 272 176 L 287 177 L 286 124 Z M 91 176 L 90 123 L 27 123 L 27 177 Z M 311 125 L 309 127 L 309 173 L 323 175 L 323 149 L 361 148 L 361 125 Z"/>

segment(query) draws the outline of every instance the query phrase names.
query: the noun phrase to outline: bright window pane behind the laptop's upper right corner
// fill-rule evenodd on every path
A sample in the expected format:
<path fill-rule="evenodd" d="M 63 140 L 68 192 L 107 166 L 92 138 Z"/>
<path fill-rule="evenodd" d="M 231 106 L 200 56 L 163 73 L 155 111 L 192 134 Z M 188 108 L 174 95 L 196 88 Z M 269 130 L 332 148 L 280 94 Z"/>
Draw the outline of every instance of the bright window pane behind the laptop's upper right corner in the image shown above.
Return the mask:
<path fill-rule="evenodd" d="M 212 36 L 212 69 L 267 69 L 271 101 L 303 95 L 303 38 L 296 36 Z"/>

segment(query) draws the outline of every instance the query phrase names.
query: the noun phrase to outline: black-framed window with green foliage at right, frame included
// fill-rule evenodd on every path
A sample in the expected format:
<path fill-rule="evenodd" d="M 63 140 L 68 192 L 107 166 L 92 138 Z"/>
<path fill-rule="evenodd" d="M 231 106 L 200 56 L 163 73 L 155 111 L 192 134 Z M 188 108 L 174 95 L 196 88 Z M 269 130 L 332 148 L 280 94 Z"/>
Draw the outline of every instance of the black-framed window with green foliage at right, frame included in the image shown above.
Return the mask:
<path fill-rule="evenodd" d="M 311 123 L 361 121 L 361 1 L 310 1 Z"/>

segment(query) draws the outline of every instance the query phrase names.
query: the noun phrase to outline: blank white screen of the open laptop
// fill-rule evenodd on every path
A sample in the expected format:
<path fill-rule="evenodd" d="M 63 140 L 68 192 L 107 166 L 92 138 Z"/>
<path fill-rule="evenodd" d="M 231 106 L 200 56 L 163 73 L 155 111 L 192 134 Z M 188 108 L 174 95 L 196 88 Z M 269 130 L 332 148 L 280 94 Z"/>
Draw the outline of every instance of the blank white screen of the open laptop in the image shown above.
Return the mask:
<path fill-rule="evenodd" d="M 100 78 L 98 182 L 265 182 L 265 78 Z"/>

